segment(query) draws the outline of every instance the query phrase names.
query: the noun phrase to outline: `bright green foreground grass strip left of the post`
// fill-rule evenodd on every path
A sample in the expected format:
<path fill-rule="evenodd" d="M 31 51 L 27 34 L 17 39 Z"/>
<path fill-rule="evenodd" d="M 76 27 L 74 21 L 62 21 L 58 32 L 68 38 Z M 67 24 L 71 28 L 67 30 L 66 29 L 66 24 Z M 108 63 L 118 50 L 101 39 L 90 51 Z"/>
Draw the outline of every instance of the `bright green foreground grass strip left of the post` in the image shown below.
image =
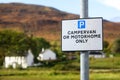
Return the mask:
<path fill-rule="evenodd" d="M 5 70 L 0 71 L 0 80 L 79 80 L 79 72 L 54 70 Z"/>

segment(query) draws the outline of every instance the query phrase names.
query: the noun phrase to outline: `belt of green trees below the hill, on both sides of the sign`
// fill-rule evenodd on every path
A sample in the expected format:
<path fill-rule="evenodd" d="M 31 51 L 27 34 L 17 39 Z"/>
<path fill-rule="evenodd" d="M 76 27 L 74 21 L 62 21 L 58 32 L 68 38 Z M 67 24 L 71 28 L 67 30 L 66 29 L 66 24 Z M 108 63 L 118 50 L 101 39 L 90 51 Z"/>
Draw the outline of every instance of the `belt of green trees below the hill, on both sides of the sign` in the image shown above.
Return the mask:
<path fill-rule="evenodd" d="M 109 45 L 109 42 L 104 41 L 104 52 L 108 55 L 110 55 L 110 53 L 113 53 L 113 52 L 120 53 L 119 45 L 120 45 L 120 39 L 115 40 L 112 46 Z M 65 53 L 61 51 L 59 42 L 54 41 L 50 44 L 48 41 L 46 41 L 43 38 L 27 36 L 24 33 L 12 31 L 12 30 L 5 30 L 0 32 L 0 64 L 1 65 L 3 62 L 4 56 L 6 55 L 9 55 L 9 56 L 26 55 L 27 53 L 26 51 L 28 51 L 28 49 L 31 49 L 34 56 L 37 57 L 42 48 L 45 48 L 45 49 L 51 48 L 57 54 L 59 62 L 67 60 L 68 55 L 65 55 Z M 117 54 L 114 54 L 114 55 L 117 55 Z M 72 56 L 77 56 L 77 54 Z M 79 61 L 79 57 L 77 57 L 77 60 Z M 35 62 L 37 62 L 36 58 L 35 58 Z M 53 64 L 53 62 L 49 62 L 49 63 Z M 58 64 L 58 62 L 54 62 L 54 64 Z"/>

